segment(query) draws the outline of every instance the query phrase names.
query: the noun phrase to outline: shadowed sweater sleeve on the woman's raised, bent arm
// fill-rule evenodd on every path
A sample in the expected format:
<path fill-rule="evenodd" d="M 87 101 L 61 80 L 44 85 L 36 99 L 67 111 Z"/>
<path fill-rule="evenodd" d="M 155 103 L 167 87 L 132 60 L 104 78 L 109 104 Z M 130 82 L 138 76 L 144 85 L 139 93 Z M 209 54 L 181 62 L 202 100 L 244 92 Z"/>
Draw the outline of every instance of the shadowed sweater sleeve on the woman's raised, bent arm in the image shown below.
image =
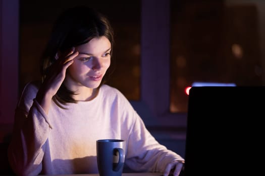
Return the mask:
<path fill-rule="evenodd" d="M 8 157 L 17 175 L 38 175 L 51 126 L 44 110 L 35 101 L 37 90 L 26 85 L 15 111 Z"/>

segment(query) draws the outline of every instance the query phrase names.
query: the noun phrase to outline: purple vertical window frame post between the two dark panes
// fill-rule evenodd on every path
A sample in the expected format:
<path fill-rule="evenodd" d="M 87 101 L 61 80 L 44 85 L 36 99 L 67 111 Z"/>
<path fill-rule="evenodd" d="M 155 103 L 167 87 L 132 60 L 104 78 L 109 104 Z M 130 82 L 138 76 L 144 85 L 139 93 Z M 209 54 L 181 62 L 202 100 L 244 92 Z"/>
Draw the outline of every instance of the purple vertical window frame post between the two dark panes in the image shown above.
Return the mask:
<path fill-rule="evenodd" d="M 141 2 L 140 75 L 141 100 L 130 102 L 146 126 L 185 133 L 187 113 L 170 113 L 170 0 Z"/>

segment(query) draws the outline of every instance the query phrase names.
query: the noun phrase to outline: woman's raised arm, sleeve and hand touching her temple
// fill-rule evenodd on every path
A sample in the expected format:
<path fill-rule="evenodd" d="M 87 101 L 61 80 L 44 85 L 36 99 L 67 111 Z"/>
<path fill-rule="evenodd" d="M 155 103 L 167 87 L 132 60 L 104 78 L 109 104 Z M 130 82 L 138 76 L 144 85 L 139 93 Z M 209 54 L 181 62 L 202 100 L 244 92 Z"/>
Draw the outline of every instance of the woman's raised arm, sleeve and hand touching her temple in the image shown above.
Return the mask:
<path fill-rule="evenodd" d="M 25 87 L 15 111 L 13 135 L 8 151 L 10 165 L 16 174 L 40 173 L 45 143 L 51 129 L 47 114 L 52 97 L 62 85 L 66 69 L 77 55 L 78 52 L 72 48 L 57 58 L 39 89 L 33 84 Z"/>

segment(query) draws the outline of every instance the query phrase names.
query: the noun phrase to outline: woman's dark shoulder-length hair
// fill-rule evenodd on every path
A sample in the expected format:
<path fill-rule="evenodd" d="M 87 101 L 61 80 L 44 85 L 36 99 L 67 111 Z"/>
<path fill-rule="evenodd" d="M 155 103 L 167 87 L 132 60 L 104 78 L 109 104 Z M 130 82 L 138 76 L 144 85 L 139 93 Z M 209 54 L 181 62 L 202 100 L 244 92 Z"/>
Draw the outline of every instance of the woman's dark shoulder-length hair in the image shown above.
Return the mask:
<path fill-rule="evenodd" d="M 89 42 L 95 37 L 105 36 L 111 42 L 112 52 L 114 45 L 114 34 L 110 22 L 94 9 L 78 6 L 66 10 L 59 16 L 52 28 L 50 38 L 41 57 L 41 79 L 42 82 L 48 74 L 50 66 L 56 61 L 56 53 L 65 51 Z M 111 66 L 105 73 L 99 87 L 105 82 L 112 71 Z M 98 87 L 98 89 L 99 89 Z M 76 93 L 67 89 L 62 83 L 57 94 L 52 98 L 61 108 L 68 103 L 76 103 L 73 95 Z"/>

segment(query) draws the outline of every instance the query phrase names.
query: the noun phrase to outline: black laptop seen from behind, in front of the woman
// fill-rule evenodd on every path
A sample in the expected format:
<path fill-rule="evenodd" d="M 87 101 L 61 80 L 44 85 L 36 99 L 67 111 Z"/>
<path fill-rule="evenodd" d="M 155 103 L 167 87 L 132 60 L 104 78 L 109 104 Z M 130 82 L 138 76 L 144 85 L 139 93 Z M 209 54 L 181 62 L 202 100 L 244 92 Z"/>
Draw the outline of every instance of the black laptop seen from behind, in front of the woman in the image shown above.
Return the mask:
<path fill-rule="evenodd" d="M 189 91 L 181 175 L 264 175 L 265 86 Z"/>

